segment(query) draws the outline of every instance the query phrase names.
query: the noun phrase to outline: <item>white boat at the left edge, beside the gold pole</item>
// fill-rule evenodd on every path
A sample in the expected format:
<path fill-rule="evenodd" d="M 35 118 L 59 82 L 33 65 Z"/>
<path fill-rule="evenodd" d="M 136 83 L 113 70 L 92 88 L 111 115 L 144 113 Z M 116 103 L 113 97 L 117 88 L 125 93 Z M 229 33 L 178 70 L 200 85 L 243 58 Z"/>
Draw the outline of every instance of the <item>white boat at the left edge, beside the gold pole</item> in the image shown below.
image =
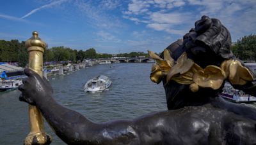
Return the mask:
<path fill-rule="evenodd" d="M 18 86 L 22 85 L 22 80 L 20 79 L 8 79 L 0 81 L 0 92 L 4 92 L 6 90 L 13 90 L 18 88 Z"/>

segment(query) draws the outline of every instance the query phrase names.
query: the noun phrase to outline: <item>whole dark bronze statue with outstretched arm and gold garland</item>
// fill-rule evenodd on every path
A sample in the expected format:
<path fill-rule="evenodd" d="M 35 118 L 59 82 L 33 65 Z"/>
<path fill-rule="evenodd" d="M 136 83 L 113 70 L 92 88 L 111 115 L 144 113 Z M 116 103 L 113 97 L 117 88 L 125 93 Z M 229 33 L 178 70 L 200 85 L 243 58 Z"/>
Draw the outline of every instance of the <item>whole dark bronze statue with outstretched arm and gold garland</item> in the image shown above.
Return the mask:
<path fill-rule="evenodd" d="M 46 79 L 25 69 L 20 100 L 38 107 L 67 144 L 256 144 L 256 109 L 221 99 L 225 81 L 255 95 L 252 73 L 230 51 L 230 34 L 214 18 L 168 46 L 150 78 L 163 81 L 168 111 L 134 120 L 93 123 L 52 98 Z"/>

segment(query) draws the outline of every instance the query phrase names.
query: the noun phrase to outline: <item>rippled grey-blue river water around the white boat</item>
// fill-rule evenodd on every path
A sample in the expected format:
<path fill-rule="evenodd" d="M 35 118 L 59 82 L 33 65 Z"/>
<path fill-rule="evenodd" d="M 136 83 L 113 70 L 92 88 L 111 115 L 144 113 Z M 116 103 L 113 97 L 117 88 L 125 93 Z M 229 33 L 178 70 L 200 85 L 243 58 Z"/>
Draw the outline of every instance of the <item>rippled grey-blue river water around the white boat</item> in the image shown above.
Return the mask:
<path fill-rule="evenodd" d="M 54 99 L 97 123 L 131 120 L 145 113 L 167 109 L 163 85 L 150 81 L 152 64 L 122 63 L 97 65 L 65 76 L 51 76 Z M 100 93 L 83 92 L 83 85 L 100 74 L 113 84 Z M 23 144 L 29 133 L 28 104 L 19 102 L 19 90 L 0 93 L 0 144 Z M 52 144 L 65 144 L 45 123 Z"/>

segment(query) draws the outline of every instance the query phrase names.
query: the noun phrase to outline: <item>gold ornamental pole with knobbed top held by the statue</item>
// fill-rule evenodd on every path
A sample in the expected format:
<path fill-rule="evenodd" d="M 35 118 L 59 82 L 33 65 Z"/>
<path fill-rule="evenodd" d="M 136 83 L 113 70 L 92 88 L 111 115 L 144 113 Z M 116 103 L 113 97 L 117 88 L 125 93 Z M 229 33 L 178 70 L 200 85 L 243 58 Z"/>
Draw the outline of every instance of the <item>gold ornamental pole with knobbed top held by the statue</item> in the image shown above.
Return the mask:
<path fill-rule="evenodd" d="M 32 34 L 33 36 L 25 43 L 29 53 L 28 66 L 42 77 L 43 54 L 46 43 L 38 38 L 38 32 L 33 31 Z M 47 135 L 44 131 L 42 114 L 38 108 L 31 105 L 29 105 L 29 122 L 30 132 L 24 140 L 24 144 L 51 144 L 51 136 Z"/>

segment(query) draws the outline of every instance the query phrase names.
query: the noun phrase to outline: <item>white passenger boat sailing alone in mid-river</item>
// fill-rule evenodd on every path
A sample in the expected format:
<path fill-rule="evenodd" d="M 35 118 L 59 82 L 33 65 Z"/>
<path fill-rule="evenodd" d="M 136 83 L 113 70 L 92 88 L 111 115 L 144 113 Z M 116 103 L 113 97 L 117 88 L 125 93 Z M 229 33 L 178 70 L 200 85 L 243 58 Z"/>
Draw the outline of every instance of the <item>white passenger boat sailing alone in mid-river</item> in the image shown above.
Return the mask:
<path fill-rule="evenodd" d="M 87 81 L 87 83 L 84 85 L 84 91 L 102 92 L 103 90 L 106 90 L 111 85 L 111 83 L 112 81 L 110 81 L 107 76 L 97 76 L 96 78 Z"/>

